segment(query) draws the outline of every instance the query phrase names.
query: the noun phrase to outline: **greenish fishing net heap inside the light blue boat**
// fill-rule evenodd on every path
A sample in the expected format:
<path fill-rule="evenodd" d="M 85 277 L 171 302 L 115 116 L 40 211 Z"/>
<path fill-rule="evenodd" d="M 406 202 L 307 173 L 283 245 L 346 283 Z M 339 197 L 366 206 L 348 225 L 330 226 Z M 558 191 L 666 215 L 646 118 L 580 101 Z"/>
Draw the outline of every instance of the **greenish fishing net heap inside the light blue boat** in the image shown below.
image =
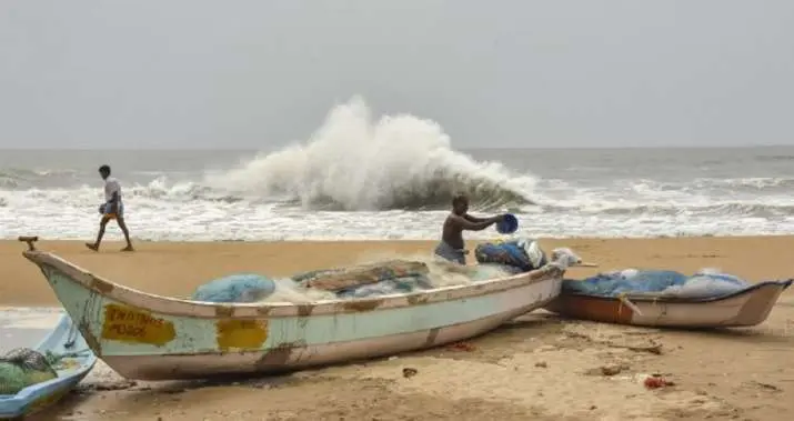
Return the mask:
<path fill-rule="evenodd" d="M 42 355 L 30 348 L 18 348 L 0 357 L 0 394 L 17 394 L 20 390 L 58 377 L 54 355 Z"/>

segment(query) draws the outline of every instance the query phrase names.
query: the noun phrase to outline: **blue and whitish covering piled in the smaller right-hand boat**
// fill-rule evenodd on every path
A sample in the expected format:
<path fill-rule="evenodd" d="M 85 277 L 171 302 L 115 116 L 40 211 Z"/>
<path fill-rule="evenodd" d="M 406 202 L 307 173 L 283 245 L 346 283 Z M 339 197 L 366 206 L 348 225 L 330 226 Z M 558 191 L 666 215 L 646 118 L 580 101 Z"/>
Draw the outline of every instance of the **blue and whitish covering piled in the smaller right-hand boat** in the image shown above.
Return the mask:
<path fill-rule="evenodd" d="M 584 280 L 565 280 L 563 291 L 587 295 L 617 297 L 624 293 L 715 298 L 750 287 L 725 273 L 697 272 L 692 277 L 672 270 L 636 270 L 599 273 Z"/>

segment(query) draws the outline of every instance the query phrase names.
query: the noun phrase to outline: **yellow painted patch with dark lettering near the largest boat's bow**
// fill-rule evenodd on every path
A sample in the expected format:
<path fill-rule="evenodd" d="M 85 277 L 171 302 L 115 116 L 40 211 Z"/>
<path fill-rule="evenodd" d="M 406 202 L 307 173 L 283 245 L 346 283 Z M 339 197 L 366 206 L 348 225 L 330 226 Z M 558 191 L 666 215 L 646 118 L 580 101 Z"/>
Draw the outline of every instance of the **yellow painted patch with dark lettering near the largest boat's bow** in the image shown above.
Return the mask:
<path fill-rule="evenodd" d="M 177 337 L 173 322 L 152 317 L 148 311 L 107 304 L 102 339 L 162 347 Z"/>

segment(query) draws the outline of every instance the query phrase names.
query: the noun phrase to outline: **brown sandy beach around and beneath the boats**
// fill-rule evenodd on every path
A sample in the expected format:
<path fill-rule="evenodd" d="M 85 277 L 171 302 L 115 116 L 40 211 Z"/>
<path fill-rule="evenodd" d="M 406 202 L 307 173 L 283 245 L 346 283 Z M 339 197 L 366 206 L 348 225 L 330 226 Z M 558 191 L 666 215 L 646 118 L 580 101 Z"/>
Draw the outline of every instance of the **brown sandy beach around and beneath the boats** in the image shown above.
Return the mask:
<path fill-rule="evenodd" d="M 600 270 L 718 268 L 752 281 L 794 277 L 794 237 L 542 240 L 570 247 Z M 430 253 L 428 241 L 138 242 L 100 253 L 42 241 L 97 274 L 147 292 L 184 297 L 215 277 L 285 275 L 381 257 Z M 23 244 L 0 242 L 0 305 L 57 307 Z M 632 350 L 662 344 L 662 353 Z M 368 362 L 234 384 L 124 383 L 107 367 L 41 420 L 667 420 L 788 419 L 794 402 L 794 292 L 765 323 L 708 332 L 625 328 L 533 312 L 466 342 Z M 101 365 L 101 364 L 100 364 Z M 402 370 L 416 374 L 404 378 Z M 604 371 L 613 375 L 604 375 Z M 616 373 L 615 373 L 616 371 Z M 675 385 L 646 390 L 662 373 Z"/>

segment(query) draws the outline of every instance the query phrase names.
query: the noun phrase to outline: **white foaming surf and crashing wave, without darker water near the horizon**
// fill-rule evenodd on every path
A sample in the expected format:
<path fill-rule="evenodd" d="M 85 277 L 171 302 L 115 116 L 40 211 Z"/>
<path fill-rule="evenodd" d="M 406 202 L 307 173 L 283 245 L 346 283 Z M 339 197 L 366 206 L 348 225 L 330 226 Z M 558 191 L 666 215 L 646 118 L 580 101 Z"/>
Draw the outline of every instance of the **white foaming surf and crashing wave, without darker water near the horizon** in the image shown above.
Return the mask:
<path fill-rule="evenodd" d="M 734 172 L 540 178 L 455 151 L 436 122 L 375 117 L 354 98 L 305 141 L 233 168 L 141 170 L 148 176 L 121 181 L 132 235 L 151 240 L 435 239 L 458 191 L 471 194 L 475 212 L 516 213 L 531 237 L 794 232 L 794 177 Z M 73 169 L 0 168 L 0 238 L 93 235 L 102 200 L 96 180 L 96 171 L 87 179 Z M 111 227 L 108 237 L 118 235 Z"/>

